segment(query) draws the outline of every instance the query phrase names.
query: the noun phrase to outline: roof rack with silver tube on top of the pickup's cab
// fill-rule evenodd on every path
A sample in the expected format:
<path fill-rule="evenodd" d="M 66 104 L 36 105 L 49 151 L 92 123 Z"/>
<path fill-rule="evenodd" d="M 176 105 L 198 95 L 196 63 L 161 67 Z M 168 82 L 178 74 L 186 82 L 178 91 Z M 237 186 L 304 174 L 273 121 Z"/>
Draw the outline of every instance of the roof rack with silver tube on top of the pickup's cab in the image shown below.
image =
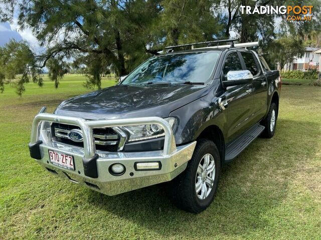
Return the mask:
<path fill-rule="evenodd" d="M 165 49 L 167 49 L 167 52 L 172 52 L 172 51 L 174 51 L 174 48 L 191 46 L 191 48 L 194 49 L 195 46 L 204 45 L 204 44 L 207 44 L 208 46 L 206 46 L 206 47 L 198 47 L 197 49 L 259 46 L 259 40 L 253 41 L 253 42 L 234 43 L 234 41 L 237 41 L 237 40 L 238 39 L 203 41 L 203 42 L 188 43 L 188 44 L 182 44 L 182 45 L 176 45 L 176 46 L 167 46 L 167 47 L 165 47 Z M 222 42 L 226 42 L 226 43 L 229 43 L 229 44 L 219 45 L 219 43 L 222 43 Z M 217 43 L 217 45 L 216 46 L 211 46 L 213 43 Z"/>

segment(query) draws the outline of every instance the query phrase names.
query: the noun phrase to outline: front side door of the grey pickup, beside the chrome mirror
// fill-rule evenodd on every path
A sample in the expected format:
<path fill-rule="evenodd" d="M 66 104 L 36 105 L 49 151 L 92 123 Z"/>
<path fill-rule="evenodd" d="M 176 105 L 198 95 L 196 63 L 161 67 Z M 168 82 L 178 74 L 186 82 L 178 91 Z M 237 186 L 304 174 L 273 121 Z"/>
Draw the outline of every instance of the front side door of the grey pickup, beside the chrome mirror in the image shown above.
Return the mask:
<path fill-rule="evenodd" d="M 229 71 L 244 70 L 240 52 L 232 50 L 228 52 L 223 66 L 222 78 L 226 79 Z M 227 142 L 243 133 L 249 126 L 249 118 L 252 114 L 252 83 L 237 86 L 229 86 L 224 93 L 227 101 Z"/>

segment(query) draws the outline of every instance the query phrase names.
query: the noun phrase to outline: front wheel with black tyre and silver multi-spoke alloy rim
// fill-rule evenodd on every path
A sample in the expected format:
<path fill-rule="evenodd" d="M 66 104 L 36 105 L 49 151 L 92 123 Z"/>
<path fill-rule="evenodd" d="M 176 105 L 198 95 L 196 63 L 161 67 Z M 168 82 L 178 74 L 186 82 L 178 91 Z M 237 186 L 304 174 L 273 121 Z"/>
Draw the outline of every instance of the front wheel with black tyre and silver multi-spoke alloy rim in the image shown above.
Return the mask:
<path fill-rule="evenodd" d="M 220 171 L 220 154 L 215 143 L 200 139 L 186 170 L 170 182 L 172 202 L 189 212 L 205 210 L 215 196 Z"/>

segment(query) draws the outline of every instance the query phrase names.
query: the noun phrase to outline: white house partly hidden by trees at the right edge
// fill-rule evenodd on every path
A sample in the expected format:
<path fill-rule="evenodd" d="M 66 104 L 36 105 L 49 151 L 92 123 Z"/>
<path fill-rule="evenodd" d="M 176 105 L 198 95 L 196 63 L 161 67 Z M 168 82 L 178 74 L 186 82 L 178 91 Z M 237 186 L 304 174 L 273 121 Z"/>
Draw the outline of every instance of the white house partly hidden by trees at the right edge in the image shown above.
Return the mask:
<path fill-rule="evenodd" d="M 286 71 L 318 69 L 320 58 L 319 54 L 315 52 L 318 49 L 318 47 L 305 47 L 304 54 L 302 56 L 294 56 L 291 62 L 284 65 L 283 69 Z"/>

